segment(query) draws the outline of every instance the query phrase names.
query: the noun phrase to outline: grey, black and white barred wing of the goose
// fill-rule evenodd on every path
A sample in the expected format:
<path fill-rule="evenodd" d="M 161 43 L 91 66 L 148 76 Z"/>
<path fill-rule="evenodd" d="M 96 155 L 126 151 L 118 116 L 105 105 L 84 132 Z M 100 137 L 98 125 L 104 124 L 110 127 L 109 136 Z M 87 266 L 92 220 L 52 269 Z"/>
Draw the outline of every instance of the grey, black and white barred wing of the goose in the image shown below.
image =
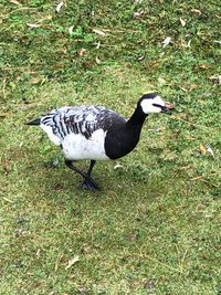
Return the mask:
<path fill-rule="evenodd" d="M 69 134 L 81 134 L 88 139 L 96 129 L 105 130 L 112 124 L 113 115 L 117 116 L 97 106 L 62 107 L 42 117 L 40 126 L 55 145 L 61 145 Z"/>

